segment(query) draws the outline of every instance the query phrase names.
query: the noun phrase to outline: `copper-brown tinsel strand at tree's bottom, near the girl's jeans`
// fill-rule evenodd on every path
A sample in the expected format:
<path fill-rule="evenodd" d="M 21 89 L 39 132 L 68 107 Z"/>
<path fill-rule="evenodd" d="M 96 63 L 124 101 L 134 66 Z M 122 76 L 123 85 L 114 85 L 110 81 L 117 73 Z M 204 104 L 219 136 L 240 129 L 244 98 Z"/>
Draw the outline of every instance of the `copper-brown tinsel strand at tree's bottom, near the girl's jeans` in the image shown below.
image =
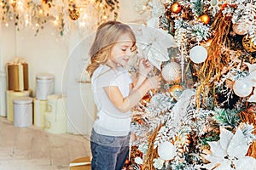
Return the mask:
<path fill-rule="evenodd" d="M 154 149 L 154 139 L 156 138 L 157 133 L 160 130 L 160 127 L 162 127 L 162 124 L 160 124 L 159 127 L 155 128 L 154 133 L 152 133 L 148 137 L 148 150 L 147 154 L 143 158 L 143 170 L 154 169 L 153 160 L 154 158 L 158 157 L 157 149 Z"/>

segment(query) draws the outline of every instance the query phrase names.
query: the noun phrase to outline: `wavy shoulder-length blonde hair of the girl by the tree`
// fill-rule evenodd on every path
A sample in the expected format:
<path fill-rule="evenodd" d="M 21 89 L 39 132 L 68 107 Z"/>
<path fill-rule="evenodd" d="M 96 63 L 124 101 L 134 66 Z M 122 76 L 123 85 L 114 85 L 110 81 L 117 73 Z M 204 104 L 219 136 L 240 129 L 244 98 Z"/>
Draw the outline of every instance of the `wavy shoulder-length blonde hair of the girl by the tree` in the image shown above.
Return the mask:
<path fill-rule="evenodd" d="M 125 33 L 129 33 L 135 46 L 136 37 L 130 26 L 119 21 L 108 21 L 100 25 L 96 31 L 96 37 L 90 47 L 90 65 L 87 66 L 90 77 L 101 64 L 105 64 L 110 55 L 113 45 L 118 41 L 119 37 Z"/>

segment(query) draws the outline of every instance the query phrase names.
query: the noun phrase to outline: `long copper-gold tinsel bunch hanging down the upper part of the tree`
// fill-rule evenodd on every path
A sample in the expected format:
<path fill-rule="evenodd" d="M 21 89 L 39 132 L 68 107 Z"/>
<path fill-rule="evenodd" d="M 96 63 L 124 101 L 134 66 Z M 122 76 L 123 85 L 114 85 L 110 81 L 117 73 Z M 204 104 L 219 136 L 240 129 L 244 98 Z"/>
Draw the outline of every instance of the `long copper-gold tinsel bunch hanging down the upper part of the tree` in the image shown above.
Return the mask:
<path fill-rule="evenodd" d="M 214 82 L 218 82 L 221 77 L 221 71 L 230 61 L 230 56 L 222 55 L 223 46 L 229 45 L 228 34 L 230 32 L 231 20 L 220 11 L 216 15 L 216 20 L 212 23 L 211 30 L 214 32 L 212 42 L 208 51 L 207 60 L 201 66 L 198 73 L 200 85 L 196 90 L 196 102 L 199 107 L 200 95 L 204 94 L 203 102 L 207 99 L 209 89 L 212 89 L 212 96 L 215 95 Z M 206 98 L 205 98 L 206 97 Z"/>

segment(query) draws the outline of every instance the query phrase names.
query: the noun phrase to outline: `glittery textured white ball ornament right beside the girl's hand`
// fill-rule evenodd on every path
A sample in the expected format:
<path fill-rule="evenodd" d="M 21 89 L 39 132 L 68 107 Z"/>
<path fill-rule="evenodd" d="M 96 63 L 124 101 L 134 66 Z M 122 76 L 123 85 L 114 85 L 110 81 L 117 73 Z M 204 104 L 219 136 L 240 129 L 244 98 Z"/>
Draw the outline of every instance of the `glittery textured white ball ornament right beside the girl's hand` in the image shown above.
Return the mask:
<path fill-rule="evenodd" d="M 166 64 L 162 69 L 162 77 L 166 82 L 177 82 L 181 78 L 180 65 L 176 62 Z"/>

